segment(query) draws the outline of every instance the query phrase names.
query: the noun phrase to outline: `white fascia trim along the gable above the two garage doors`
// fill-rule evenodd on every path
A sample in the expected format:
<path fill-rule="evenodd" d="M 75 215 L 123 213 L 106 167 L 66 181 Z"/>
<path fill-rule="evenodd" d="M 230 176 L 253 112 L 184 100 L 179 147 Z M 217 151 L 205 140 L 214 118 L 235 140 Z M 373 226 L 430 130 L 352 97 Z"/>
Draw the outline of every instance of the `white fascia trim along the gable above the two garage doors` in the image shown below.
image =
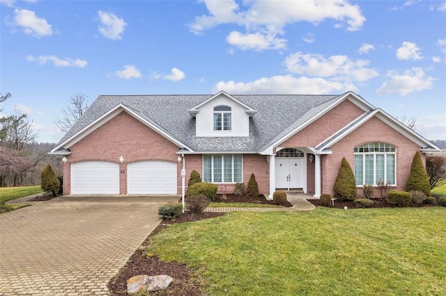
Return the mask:
<path fill-rule="evenodd" d="M 188 149 L 188 150 L 192 151 L 192 149 L 190 149 L 189 147 L 187 147 L 183 143 L 179 142 L 175 138 L 171 137 L 171 135 L 165 133 L 164 131 L 162 131 L 160 128 L 158 128 L 154 124 L 151 124 L 151 122 L 148 122 L 143 117 L 141 117 L 139 114 L 135 113 L 134 110 L 128 108 L 127 106 L 125 106 L 123 104 L 118 104 L 114 108 L 112 108 L 112 110 L 109 110 L 109 112 L 105 113 L 104 115 L 99 117 L 97 120 L 91 122 L 91 124 L 89 124 L 88 126 L 85 126 L 84 129 L 82 129 L 81 131 L 79 131 L 75 135 L 72 135 L 70 138 L 68 138 L 68 140 L 66 140 L 65 142 L 63 142 L 60 145 L 58 145 L 56 148 L 54 148 L 51 151 L 51 153 L 56 151 L 56 150 L 58 150 L 58 149 L 61 149 L 62 147 L 67 149 L 67 148 L 71 147 L 72 145 L 75 145 L 77 142 L 79 142 L 80 140 L 85 138 L 91 132 L 95 131 L 100 126 L 102 126 L 103 124 L 107 123 L 109 120 L 112 120 L 112 118 L 114 118 L 116 115 L 118 115 L 122 111 L 127 112 L 132 117 L 134 117 L 135 119 L 139 120 L 140 122 L 142 122 L 146 126 L 150 127 L 151 129 L 153 129 L 157 133 L 160 133 L 160 135 L 162 135 L 164 138 L 167 138 L 167 140 L 173 142 L 175 145 L 178 145 L 178 147 L 184 147 L 185 149 Z"/>

